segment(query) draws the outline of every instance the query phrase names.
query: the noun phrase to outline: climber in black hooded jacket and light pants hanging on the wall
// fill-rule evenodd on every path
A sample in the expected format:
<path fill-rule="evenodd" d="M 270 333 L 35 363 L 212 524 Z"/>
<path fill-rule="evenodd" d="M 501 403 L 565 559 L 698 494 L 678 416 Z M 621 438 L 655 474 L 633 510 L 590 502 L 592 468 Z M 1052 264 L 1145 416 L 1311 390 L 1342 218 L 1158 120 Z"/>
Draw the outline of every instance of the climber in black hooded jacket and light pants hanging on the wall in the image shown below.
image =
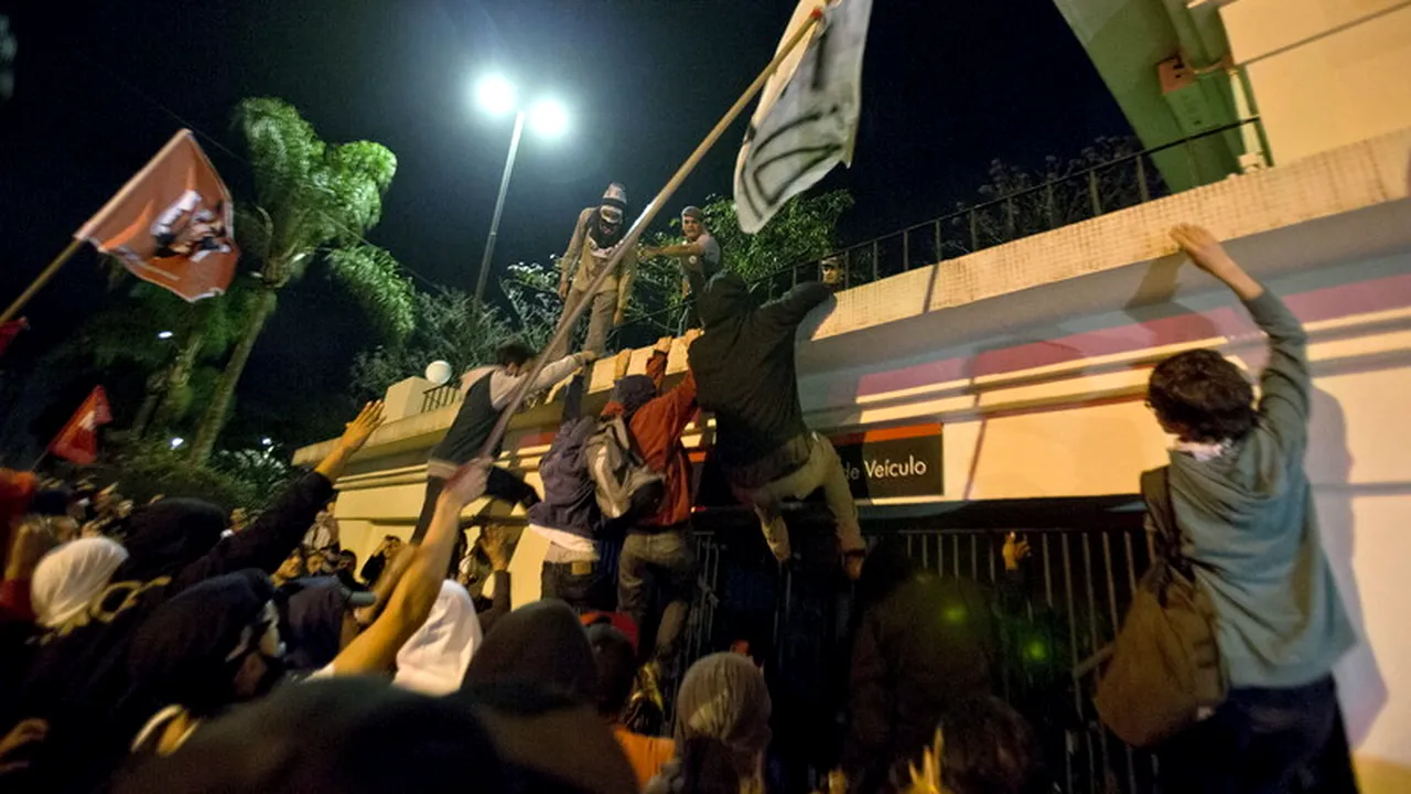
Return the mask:
<path fill-rule="evenodd" d="M 700 407 L 715 414 L 715 456 L 731 490 L 759 516 L 775 558 L 789 559 L 789 527 L 779 506 L 823 489 L 837 521 L 844 569 L 862 569 L 862 530 L 842 461 L 828 439 L 809 429 L 799 404 L 794 333 L 831 292 L 800 284 L 759 305 L 732 273 L 711 280 L 700 301 L 706 333 L 690 349 Z"/>

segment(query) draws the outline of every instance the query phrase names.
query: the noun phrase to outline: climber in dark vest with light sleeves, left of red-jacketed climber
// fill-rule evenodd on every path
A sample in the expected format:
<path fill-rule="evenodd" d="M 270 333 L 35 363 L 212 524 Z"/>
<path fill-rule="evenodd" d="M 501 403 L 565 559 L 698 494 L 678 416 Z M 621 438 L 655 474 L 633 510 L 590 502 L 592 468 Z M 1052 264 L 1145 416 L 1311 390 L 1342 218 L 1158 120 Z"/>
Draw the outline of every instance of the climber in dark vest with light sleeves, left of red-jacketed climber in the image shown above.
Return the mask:
<path fill-rule="evenodd" d="M 509 404 L 515 389 L 529 374 L 528 365 L 532 357 L 533 350 L 523 342 L 507 342 L 495 350 L 494 365 L 477 367 L 460 376 L 460 390 L 466 397 L 456 413 L 456 420 L 452 421 L 440 442 L 432 448 L 430 458 L 426 461 L 426 497 L 422 503 L 422 514 L 416 519 L 412 543 L 420 543 L 426 535 L 432 516 L 436 513 L 436 499 L 446 480 L 456 473 L 456 469 L 480 455 L 480 448 L 490 438 L 490 431 L 494 429 L 501 411 Z M 588 350 L 564 356 L 545 366 L 529 390 L 547 389 L 594 359 L 597 355 Z M 491 456 L 498 454 L 499 451 L 495 449 Z M 490 469 L 485 496 L 523 504 L 526 509 L 539 502 L 539 494 L 535 493 L 533 487 L 499 466 Z"/>

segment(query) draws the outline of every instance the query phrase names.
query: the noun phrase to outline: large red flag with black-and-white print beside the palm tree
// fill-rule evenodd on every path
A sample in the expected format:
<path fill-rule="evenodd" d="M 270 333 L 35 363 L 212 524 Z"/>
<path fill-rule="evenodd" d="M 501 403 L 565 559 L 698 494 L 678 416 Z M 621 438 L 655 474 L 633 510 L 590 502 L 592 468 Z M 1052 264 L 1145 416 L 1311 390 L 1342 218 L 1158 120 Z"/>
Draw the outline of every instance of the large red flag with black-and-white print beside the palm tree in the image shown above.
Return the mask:
<path fill-rule="evenodd" d="M 188 301 L 224 292 L 240 259 L 230 191 L 190 130 L 176 133 L 73 236 Z"/>

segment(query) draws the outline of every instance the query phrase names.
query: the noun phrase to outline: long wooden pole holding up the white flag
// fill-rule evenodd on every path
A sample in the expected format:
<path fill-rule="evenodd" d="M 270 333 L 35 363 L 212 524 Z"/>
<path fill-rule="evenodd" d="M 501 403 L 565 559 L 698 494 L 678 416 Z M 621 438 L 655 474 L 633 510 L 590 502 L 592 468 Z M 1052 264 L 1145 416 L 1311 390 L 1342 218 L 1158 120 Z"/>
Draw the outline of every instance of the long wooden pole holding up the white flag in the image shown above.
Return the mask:
<path fill-rule="evenodd" d="M 642 209 L 642 215 L 639 215 L 636 220 L 632 222 L 632 227 L 628 229 L 626 236 L 622 237 L 622 242 L 617 246 L 617 250 L 612 251 L 612 256 L 608 259 L 607 266 L 588 284 L 587 294 L 590 295 L 595 294 L 598 288 L 602 285 L 602 283 L 607 281 L 607 277 L 617 271 L 617 267 L 622 261 L 622 257 L 626 254 L 629 249 L 636 246 L 636 242 L 638 239 L 641 239 L 642 232 L 645 232 L 646 227 L 652 223 L 652 220 L 656 219 L 656 213 L 662 211 L 662 205 L 670 201 L 672 195 L 676 194 L 676 189 L 680 188 L 682 182 L 686 181 L 686 177 L 689 177 L 690 172 L 696 170 L 696 165 L 700 164 L 701 158 L 706 157 L 706 153 L 710 151 L 713 146 L 715 146 L 715 141 L 718 141 L 720 137 L 725 134 L 725 130 L 731 124 L 734 124 L 735 119 L 738 119 L 741 112 L 745 110 L 745 106 L 749 105 L 749 102 L 755 99 L 755 96 L 765 88 L 765 82 L 768 82 L 770 75 L 775 73 L 775 69 L 777 69 L 779 65 L 785 62 L 785 59 L 789 57 L 790 52 L 794 51 L 794 48 L 803 44 L 803 41 L 809 37 L 810 32 L 813 32 L 813 28 L 816 28 L 820 21 L 823 21 L 821 6 L 814 8 L 813 14 L 809 14 L 809 20 L 804 24 L 799 25 L 799 30 L 794 31 L 794 34 L 789 37 L 789 40 L 785 41 L 783 45 L 779 47 L 779 51 L 775 52 L 773 59 L 770 59 L 769 65 L 766 65 L 765 69 L 759 72 L 759 76 L 755 78 L 755 82 L 749 83 L 749 88 L 745 89 L 745 93 L 739 95 L 739 99 L 735 100 L 735 105 L 731 105 L 729 110 L 727 110 L 725 114 L 721 116 L 720 122 L 715 122 L 715 127 L 706 136 L 706 140 L 703 140 L 700 146 L 696 147 L 696 151 L 693 151 L 691 155 L 686 158 L 686 162 L 682 162 L 682 167 L 676 170 L 676 174 L 673 174 L 672 178 L 666 182 L 666 186 L 663 186 L 662 191 L 656 194 L 656 198 L 653 198 L 652 202 Z M 583 315 L 583 312 L 588 308 L 588 304 L 591 302 L 593 301 L 579 301 L 579 305 L 576 305 L 573 311 L 567 312 L 559 321 L 559 328 L 555 329 L 553 339 L 550 339 L 549 345 L 545 346 L 546 352 L 559 349 L 560 346 L 567 348 L 567 339 L 569 335 L 573 332 L 573 326 L 577 324 L 579 318 Z M 495 446 L 499 445 L 499 439 L 504 438 L 505 431 L 509 428 L 509 420 L 514 417 L 515 411 L 519 410 L 519 405 L 523 403 L 525 397 L 529 393 L 529 386 L 535 381 L 535 379 L 539 377 L 539 373 L 547 363 L 549 362 L 546 360 L 543 353 L 540 353 L 535 359 L 535 363 L 529 369 L 529 373 L 519 381 L 519 386 L 515 389 L 514 396 L 505 405 L 505 410 L 501 411 L 499 418 L 495 420 L 495 427 L 490 431 L 490 437 L 485 438 L 485 444 L 480 448 L 481 458 L 494 456 Z"/>

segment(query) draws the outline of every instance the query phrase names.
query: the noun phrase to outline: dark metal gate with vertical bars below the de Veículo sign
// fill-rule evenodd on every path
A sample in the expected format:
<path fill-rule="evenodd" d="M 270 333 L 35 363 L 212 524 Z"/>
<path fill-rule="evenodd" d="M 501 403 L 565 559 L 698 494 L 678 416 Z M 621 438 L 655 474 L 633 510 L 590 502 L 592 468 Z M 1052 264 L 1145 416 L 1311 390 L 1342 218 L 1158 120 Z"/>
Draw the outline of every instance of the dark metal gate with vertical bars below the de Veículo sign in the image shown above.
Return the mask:
<path fill-rule="evenodd" d="M 1020 585 L 1005 582 L 1007 530 L 899 530 L 907 554 L 940 576 L 959 576 L 991 593 L 1009 640 L 1002 643 L 999 692 L 1034 725 L 1055 790 L 1150 791 L 1154 762 L 1105 730 L 1091 702 L 1092 681 L 1072 670 L 1112 641 L 1151 550 L 1140 527 L 1017 528 L 1031 545 Z M 755 538 L 697 534 L 698 592 L 684 643 L 686 664 L 746 640 L 766 660 L 777 719 L 775 752 L 786 790 L 820 783 L 835 753 L 847 691 L 848 588 L 835 572 L 761 564 Z M 875 543 L 879 535 L 869 535 Z M 830 548 L 831 538 L 816 538 Z M 796 533 L 796 548 L 800 548 Z M 806 544 L 807 545 L 807 544 Z M 735 547 L 735 548 L 732 548 Z M 803 550 L 809 555 L 807 548 Z M 828 555 L 827 551 L 820 554 Z M 831 559 L 831 555 L 827 557 Z M 1009 598 L 1000 598 L 1003 588 Z M 666 682 L 674 687 L 676 681 Z M 667 689 L 674 692 L 674 689 Z M 777 770 L 776 770 L 777 771 Z M 811 790 L 811 788 L 809 788 Z"/>

